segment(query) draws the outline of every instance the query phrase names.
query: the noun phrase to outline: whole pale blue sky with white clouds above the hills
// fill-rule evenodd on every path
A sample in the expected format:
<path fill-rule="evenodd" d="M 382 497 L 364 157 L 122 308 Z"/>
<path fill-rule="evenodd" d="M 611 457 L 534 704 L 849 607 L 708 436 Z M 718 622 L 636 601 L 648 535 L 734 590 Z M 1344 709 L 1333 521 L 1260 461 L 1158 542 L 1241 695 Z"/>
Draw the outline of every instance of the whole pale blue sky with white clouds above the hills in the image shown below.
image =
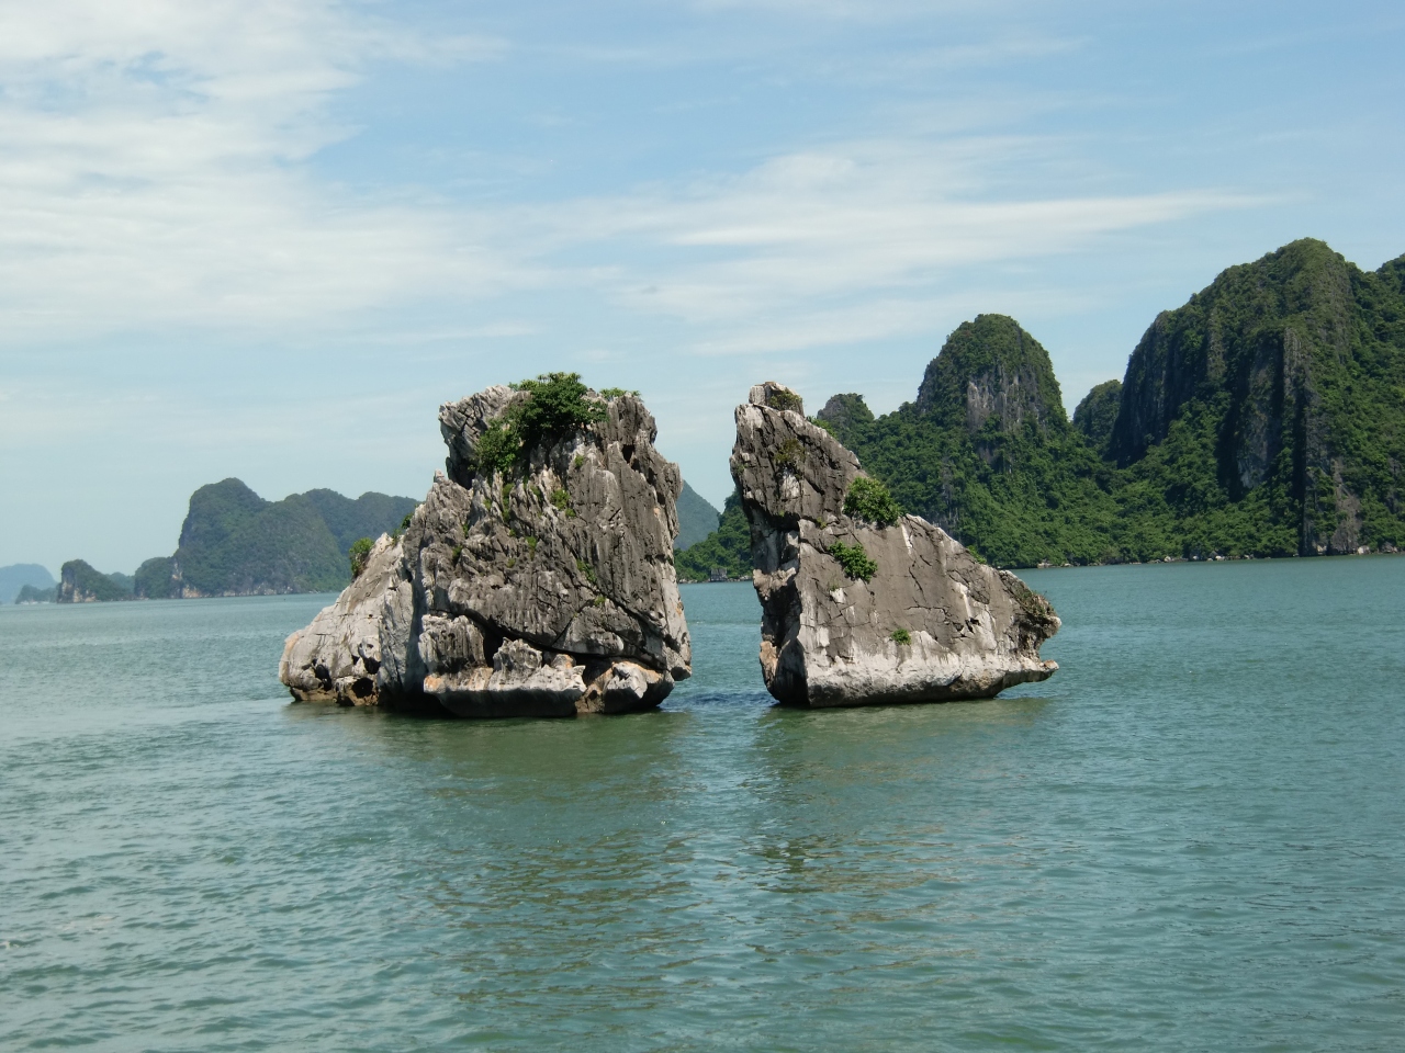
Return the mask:
<path fill-rule="evenodd" d="M 554 369 L 718 505 L 752 383 L 888 413 L 978 313 L 1072 413 L 1225 267 L 1405 253 L 1402 55 L 1397 3 L 0 0 L 0 564 L 422 497 L 440 403 Z"/>

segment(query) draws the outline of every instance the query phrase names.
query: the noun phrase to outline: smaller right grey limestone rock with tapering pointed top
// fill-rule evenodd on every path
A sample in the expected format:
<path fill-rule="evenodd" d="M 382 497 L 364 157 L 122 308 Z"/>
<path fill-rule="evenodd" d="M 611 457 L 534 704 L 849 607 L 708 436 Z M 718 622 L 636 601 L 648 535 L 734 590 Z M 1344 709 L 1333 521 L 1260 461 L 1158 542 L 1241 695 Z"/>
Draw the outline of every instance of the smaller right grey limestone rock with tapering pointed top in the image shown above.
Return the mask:
<path fill-rule="evenodd" d="M 757 385 L 736 410 L 732 449 L 771 695 L 808 706 L 936 702 L 1052 675 L 1058 665 L 1038 654 L 1059 626 L 1048 602 L 916 515 L 881 525 L 854 505 L 846 514 L 858 458 L 801 410 L 788 388 Z M 846 573 L 842 556 L 868 580 Z"/>

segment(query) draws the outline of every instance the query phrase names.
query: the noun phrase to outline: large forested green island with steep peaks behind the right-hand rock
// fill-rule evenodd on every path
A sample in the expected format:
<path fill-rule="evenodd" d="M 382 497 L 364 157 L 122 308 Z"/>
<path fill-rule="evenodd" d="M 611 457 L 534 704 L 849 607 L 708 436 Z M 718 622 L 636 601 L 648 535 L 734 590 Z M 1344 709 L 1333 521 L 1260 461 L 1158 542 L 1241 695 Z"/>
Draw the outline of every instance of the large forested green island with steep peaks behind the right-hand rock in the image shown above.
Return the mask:
<path fill-rule="evenodd" d="M 1405 257 L 1322 241 L 1231 267 L 1162 312 L 1069 420 L 1014 319 L 947 338 L 913 402 L 836 395 L 815 421 L 909 511 L 1003 567 L 1405 546 Z M 680 580 L 750 573 L 735 498 Z"/>

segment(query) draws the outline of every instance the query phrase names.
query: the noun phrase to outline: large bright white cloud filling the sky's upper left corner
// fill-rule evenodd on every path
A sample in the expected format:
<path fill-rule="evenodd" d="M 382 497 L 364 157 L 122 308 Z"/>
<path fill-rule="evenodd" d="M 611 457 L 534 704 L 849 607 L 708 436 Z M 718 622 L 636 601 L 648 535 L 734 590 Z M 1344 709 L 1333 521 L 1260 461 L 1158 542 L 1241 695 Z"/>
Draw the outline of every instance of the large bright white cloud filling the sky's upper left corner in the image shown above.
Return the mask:
<path fill-rule="evenodd" d="M 355 201 L 299 167 L 348 135 L 333 93 L 424 42 L 327 3 L 0 7 L 0 319 L 10 340 L 325 323 L 488 291 L 464 218 Z"/>

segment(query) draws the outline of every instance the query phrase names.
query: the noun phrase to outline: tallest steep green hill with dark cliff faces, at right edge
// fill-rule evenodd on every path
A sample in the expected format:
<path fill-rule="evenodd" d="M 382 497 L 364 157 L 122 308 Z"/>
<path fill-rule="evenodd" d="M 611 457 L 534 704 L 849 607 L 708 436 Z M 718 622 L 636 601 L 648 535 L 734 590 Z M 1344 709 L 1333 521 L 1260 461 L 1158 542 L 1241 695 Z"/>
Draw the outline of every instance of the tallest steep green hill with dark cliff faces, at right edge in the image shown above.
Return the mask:
<path fill-rule="evenodd" d="M 1231 267 L 1132 352 L 1109 455 L 1148 536 L 1193 550 L 1405 543 L 1405 257 L 1301 240 Z"/>

